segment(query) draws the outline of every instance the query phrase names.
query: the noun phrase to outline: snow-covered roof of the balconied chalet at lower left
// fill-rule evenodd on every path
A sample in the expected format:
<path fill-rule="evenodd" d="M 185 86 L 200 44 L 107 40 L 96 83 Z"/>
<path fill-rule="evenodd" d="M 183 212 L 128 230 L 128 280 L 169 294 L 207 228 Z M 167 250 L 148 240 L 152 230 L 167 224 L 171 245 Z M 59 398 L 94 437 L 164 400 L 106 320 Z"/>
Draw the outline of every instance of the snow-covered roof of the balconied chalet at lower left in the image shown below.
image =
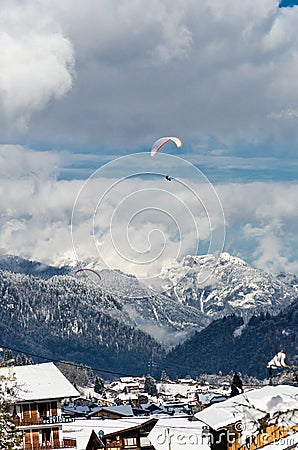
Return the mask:
<path fill-rule="evenodd" d="M 19 401 L 63 399 L 80 395 L 52 362 L 0 368 L 0 376 L 11 378 L 12 373 L 19 389 Z"/>

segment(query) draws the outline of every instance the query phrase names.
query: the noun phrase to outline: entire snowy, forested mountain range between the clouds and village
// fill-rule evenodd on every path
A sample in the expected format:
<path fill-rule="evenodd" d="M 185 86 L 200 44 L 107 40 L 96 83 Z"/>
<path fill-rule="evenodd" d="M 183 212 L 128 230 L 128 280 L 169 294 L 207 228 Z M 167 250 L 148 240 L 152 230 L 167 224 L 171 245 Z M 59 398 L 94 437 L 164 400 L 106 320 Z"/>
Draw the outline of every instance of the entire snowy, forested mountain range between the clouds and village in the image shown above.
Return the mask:
<path fill-rule="evenodd" d="M 0 267 L 4 263 L 0 258 Z M 241 370 L 246 364 L 248 373 L 260 375 L 256 361 L 237 356 L 241 344 L 241 355 L 255 351 L 256 359 L 265 358 L 265 353 L 256 349 L 255 335 L 261 336 L 262 346 L 270 353 L 263 333 L 267 325 L 261 330 L 253 324 L 267 315 L 271 328 L 275 321 L 282 321 L 277 327 L 282 336 L 296 336 L 295 327 L 287 331 L 281 314 L 297 304 L 297 278 L 291 274 L 275 277 L 228 254 L 218 259 L 189 256 L 165 268 L 161 277 L 162 289 L 167 287 L 164 293 L 139 285 L 131 275 L 125 286 L 127 297 L 112 295 L 86 275 L 75 275 L 73 268 L 63 268 L 66 274 L 60 274 L 60 268 L 48 270 L 35 264 L 29 261 L 26 269 L 26 260 L 10 256 L 10 270 L 0 270 L 0 333 L 4 341 L 0 345 L 138 374 L 147 372 L 152 358 L 160 368 L 179 361 L 180 375 L 192 360 L 196 365 L 191 365 L 191 370 L 196 373 L 208 367 L 209 371 L 228 370 L 234 363 L 222 358 L 230 352 Z M 204 276 L 206 270 L 211 276 L 199 283 L 202 269 Z M 117 283 L 121 276 L 104 271 L 101 275 L 114 277 Z M 135 288 L 145 296 L 134 298 Z M 298 318 L 295 308 L 293 316 Z M 205 351 L 200 340 L 193 346 L 188 343 L 198 336 L 207 347 L 212 343 L 213 347 L 208 347 L 212 357 L 197 356 Z"/>

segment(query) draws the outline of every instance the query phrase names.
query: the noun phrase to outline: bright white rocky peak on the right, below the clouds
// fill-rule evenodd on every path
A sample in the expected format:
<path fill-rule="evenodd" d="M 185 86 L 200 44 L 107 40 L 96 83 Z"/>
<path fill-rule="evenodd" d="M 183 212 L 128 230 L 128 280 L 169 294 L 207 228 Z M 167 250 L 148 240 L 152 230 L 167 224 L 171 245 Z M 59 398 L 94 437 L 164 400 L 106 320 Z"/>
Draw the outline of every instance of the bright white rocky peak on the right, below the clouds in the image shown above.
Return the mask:
<path fill-rule="evenodd" d="M 229 314 L 246 318 L 266 311 L 277 313 L 288 306 L 298 297 L 296 282 L 294 275 L 274 276 L 222 253 L 219 258 L 186 256 L 164 268 L 160 290 L 210 319 Z"/>

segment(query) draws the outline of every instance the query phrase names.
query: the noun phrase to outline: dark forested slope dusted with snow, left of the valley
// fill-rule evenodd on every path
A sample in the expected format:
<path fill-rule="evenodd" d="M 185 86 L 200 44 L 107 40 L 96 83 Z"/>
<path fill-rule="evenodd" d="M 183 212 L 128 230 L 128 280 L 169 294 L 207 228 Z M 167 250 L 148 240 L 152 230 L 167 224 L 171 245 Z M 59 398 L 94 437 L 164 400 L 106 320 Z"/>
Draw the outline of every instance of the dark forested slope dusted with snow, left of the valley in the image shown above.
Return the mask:
<path fill-rule="evenodd" d="M 0 345 L 104 370 L 143 374 L 163 346 L 90 280 L 0 270 Z"/>

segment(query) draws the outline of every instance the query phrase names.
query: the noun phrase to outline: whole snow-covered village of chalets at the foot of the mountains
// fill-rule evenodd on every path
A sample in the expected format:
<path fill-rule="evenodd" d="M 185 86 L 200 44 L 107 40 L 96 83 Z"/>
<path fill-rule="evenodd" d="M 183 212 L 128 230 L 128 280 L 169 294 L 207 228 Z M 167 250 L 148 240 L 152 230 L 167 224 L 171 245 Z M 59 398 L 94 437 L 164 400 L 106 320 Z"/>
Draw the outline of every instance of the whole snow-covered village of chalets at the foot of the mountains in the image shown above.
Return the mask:
<path fill-rule="evenodd" d="M 239 374 L 74 386 L 53 362 L 0 368 L 23 450 L 256 450 L 298 445 L 298 387 Z M 98 382 L 99 378 L 97 378 Z M 230 380 L 227 381 L 227 380 Z M 247 381 L 248 383 L 248 381 Z"/>

